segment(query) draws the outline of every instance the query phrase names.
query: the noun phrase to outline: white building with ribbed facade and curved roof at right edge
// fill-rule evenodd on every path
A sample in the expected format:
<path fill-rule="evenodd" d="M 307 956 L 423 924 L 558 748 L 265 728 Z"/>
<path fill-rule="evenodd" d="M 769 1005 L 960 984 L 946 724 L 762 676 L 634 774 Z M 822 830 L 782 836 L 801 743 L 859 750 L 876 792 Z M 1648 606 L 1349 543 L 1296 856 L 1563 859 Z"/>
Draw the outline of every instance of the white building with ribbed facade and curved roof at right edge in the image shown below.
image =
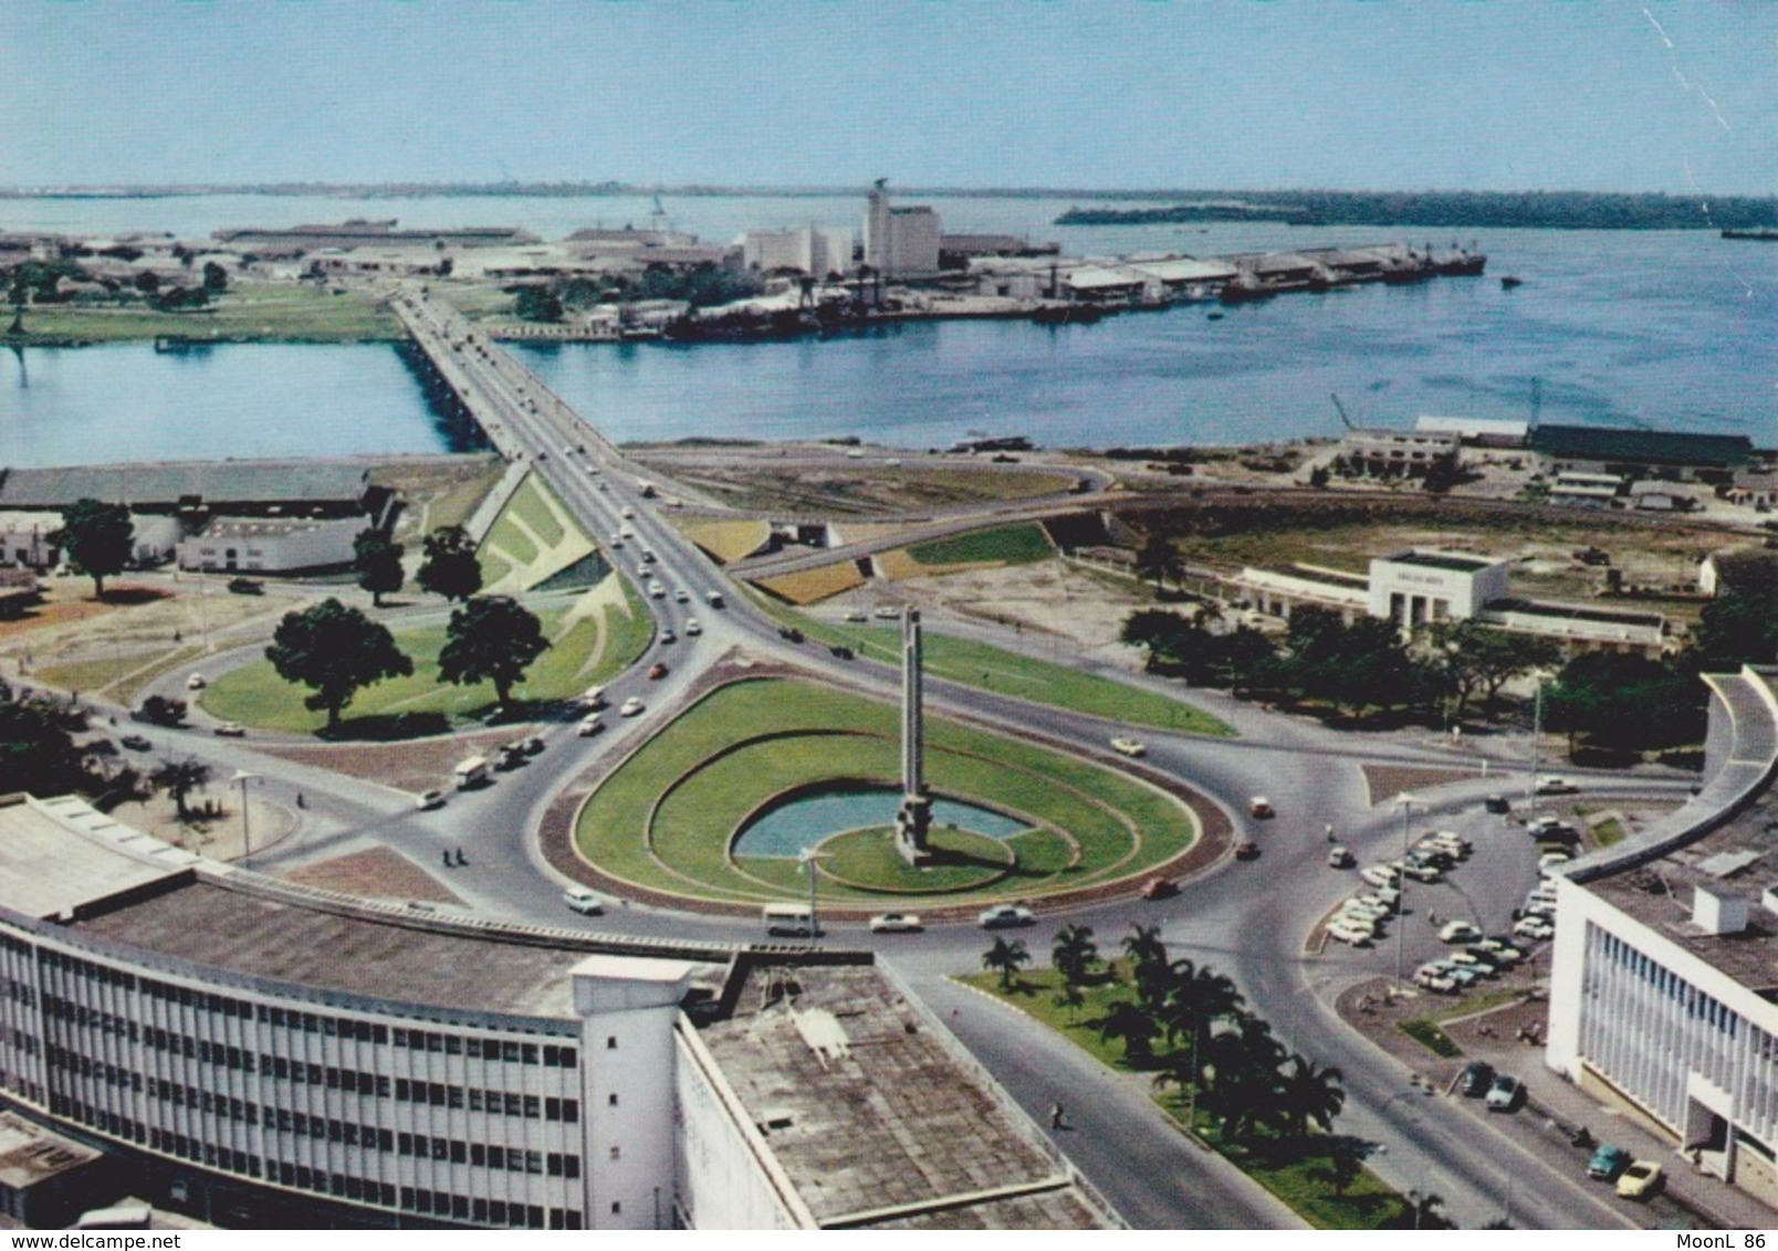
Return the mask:
<path fill-rule="evenodd" d="M 1547 1061 L 1778 1207 L 1778 691 L 1707 675 L 1705 782 L 1558 871 Z"/>

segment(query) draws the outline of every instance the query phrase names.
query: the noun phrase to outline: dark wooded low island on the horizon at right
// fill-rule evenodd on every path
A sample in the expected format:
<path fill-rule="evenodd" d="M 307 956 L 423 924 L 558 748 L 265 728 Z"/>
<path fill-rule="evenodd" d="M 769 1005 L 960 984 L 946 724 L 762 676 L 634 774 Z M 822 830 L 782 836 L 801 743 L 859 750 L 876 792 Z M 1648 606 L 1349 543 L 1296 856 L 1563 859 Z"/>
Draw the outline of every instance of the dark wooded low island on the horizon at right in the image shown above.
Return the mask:
<path fill-rule="evenodd" d="M 1122 197 L 1104 197 L 1122 199 Z M 1778 197 L 1606 192 L 1195 192 L 1147 208 L 1070 208 L 1056 226 L 1285 222 L 1289 226 L 1424 226 L 1678 231 L 1778 227 Z"/>

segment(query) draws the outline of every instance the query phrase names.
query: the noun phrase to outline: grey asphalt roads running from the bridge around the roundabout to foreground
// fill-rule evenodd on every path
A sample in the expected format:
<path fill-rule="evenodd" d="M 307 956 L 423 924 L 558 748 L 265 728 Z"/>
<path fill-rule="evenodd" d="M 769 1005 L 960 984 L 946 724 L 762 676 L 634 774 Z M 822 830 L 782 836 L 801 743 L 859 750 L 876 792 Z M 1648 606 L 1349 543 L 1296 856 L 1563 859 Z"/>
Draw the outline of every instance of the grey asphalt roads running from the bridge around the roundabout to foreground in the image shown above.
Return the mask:
<path fill-rule="evenodd" d="M 528 371 L 455 313 L 420 293 L 402 297 L 398 311 L 477 419 L 491 426 L 491 435 L 498 430 L 496 446 L 532 460 L 592 535 L 608 535 L 628 521 L 637 538 L 621 553 L 645 546 L 660 556 L 651 572 L 674 590 L 686 590 L 692 602 L 647 599 L 656 626 L 672 624 L 677 629 L 685 617 L 697 613 L 706 633 L 701 640 L 672 647 L 658 640 L 651 645 L 642 659 L 672 665 L 674 672 L 665 681 L 649 682 L 633 670 L 610 684 L 613 702 L 638 695 L 649 704 L 645 714 L 612 718 L 612 729 L 592 739 L 574 737 L 571 723 L 564 721 L 546 732 L 549 750 L 526 768 L 501 775 L 482 793 L 453 796 L 441 812 L 414 812 L 409 796 L 254 752 L 251 743 L 220 743 L 185 732 L 178 736 L 181 750 L 188 748 L 220 769 L 261 775 L 261 785 L 270 793 L 304 789 L 309 794 L 299 832 L 256 857 L 256 865 L 311 860 L 331 849 L 357 849 L 366 841 L 391 846 L 427 865 L 443 849 L 462 846 L 471 853 L 471 865 L 452 871 L 444 881 L 478 912 L 637 936 L 756 938 L 756 926 L 745 919 L 656 912 L 622 903 L 613 903 L 596 920 L 567 917 L 557 899 L 564 883 L 542 864 L 537 849 L 535 832 L 544 812 L 576 787 L 576 780 L 597 761 L 617 759 L 615 753 L 626 752 L 661 723 L 670 707 L 688 695 L 692 677 L 718 656 L 745 649 L 749 656 L 788 661 L 878 695 L 893 695 L 894 672 L 869 661 L 837 661 L 825 650 L 781 640 L 775 622 L 734 594 L 702 553 L 640 496 L 624 457 Z M 581 446 L 585 451 L 580 451 Z M 624 517 L 626 512 L 633 515 Z M 622 560 L 619 572 L 631 576 Z M 727 595 L 727 608 L 709 610 L 709 592 Z M 1003 643 L 1015 650 L 1028 645 L 1013 638 Z M 238 657 L 222 656 L 217 661 L 228 665 L 252 654 L 254 649 L 240 649 Z M 1170 689 L 1152 679 L 1127 681 Z M 1037 732 L 1086 755 L 1102 757 L 1106 739 L 1124 729 L 942 681 L 928 681 L 926 695 L 937 713 Z M 1387 954 L 1341 951 L 1309 958 L 1303 952 L 1303 940 L 1317 917 L 1351 890 L 1346 874 L 1334 874 L 1321 862 L 1323 825 L 1334 823 L 1362 858 L 1387 858 L 1399 844 L 1399 817 L 1389 807 L 1369 805 L 1357 762 L 1447 766 L 1453 762 L 1449 752 L 1401 743 L 1367 743 L 1358 750 L 1350 736 L 1234 700 L 1204 695 L 1198 702 L 1236 723 L 1243 737 L 1149 734 L 1149 766 L 1218 798 L 1245 833 L 1262 841 L 1262 860 L 1257 865 L 1223 862 L 1186 883 L 1173 901 L 1120 899 L 1074 912 L 1069 919 L 1092 924 L 1106 949 L 1133 924 L 1159 924 L 1173 954 L 1230 972 L 1252 1008 L 1273 1022 L 1284 1041 L 1344 1070 L 1348 1111 L 1342 1128 L 1382 1144 L 1373 1166 L 1401 1189 L 1437 1191 L 1462 1224 L 1478 1226 L 1501 1215 L 1504 1175 L 1513 1178 L 1511 1208 L 1520 1228 L 1630 1224 L 1623 1208 L 1602 1198 L 1598 1187 L 1588 1191 L 1543 1167 L 1508 1134 L 1478 1121 L 1469 1109 L 1417 1095 L 1399 1061 L 1334 1016 L 1326 1004 L 1339 988 L 1387 972 Z M 1499 780 L 1478 782 L 1458 791 L 1449 812 L 1438 816 L 1453 823 L 1478 821 L 1479 816 L 1470 812 L 1476 800 L 1483 789 L 1497 785 Z M 1645 782 L 1607 785 L 1600 780 L 1598 789 L 1632 793 L 1648 787 Z M 1255 793 L 1268 793 L 1280 803 L 1282 816 L 1262 828 L 1243 816 L 1245 796 Z M 1428 912 L 1499 915 L 1522 890 L 1518 878 L 1534 873 L 1526 867 L 1522 835 L 1511 844 L 1497 832 L 1495 837 L 1486 837 L 1483 830 L 1478 833 L 1483 835 L 1478 837 L 1478 864 L 1458 874 L 1458 887 L 1433 888 L 1444 894 L 1428 897 Z M 1419 908 L 1414 913 L 1401 924 L 1410 926 L 1408 958 L 1417 961 L 1437 951 L 1437 942 L 1430 926 L 1417 919 Z M 1047 947 L 1060 920 L 1045 915 L 1033 933 L 1024 935 L 1033 952 Z M 894 963 L 941 1015 L 953 1020 L 958 1036 L 1033 1116 L 1042 1118 L 1058 1096 L 1072 1100 L 1070 1120 L 1077 1128 L 1061 1144 L 1134 1224 L 1259 1228 L 1294 1223 L 1257 1185 L 1186 1144 L 1159 1118 L 1140 1112 L 1145 1100 L 1140 1093 L 1131 1098 L 1118 1084 L 1122 1079 L 1083 1068 L 1069 1043 L 949 983 L 948 976 L 980 967 L 983 940 L 973 928 L 933 926 L 923 935 L 905 936 L 873 936 L 862 926 L 836 924 L 832 929 L 837 940 L 875 947 Z M 955 1016 L 949 1016 L 953 1009 Z M 1527 1063 L 1538 1061 L 1527 1054 Z M 1092 1080 L 1088 1073 L 1093 1073 Z"/>

